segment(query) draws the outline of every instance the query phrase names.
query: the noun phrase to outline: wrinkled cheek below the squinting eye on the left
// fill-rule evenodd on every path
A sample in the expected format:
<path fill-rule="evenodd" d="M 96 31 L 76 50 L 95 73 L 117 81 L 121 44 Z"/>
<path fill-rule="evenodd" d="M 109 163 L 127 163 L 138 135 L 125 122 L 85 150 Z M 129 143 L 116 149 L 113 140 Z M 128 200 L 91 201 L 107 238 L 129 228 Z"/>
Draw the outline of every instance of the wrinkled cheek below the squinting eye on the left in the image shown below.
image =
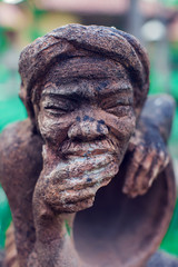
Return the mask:
<path fill-rule="evenodd" d="M 70 118 L 59 120 L 59 118 L 51 118 L 43 113 L 39 113 L 38 126 L 44 141 L 56 146 L 67 138 Z"/>

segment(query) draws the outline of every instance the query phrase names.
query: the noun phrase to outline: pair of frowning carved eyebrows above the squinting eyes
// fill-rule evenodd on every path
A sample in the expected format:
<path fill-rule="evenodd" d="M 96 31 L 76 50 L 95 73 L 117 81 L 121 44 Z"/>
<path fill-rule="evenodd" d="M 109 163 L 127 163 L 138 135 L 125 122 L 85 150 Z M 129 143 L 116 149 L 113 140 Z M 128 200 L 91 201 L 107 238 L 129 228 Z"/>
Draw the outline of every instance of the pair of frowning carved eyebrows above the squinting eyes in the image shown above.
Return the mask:
<path fill-rule="evenodd" d="M 108 90 L 110 88 L 110 90 Z M 69 98 L 69 99 L 78 99 L 78 98 L 83 98 L 83 99 L 88 99 L 88 98 L 96 98 L 96 95 L 93 93 L 89 93 L 89 91 L 85 91 L 81 88 L 77 88 L 73 87 L 73 89 L 76 89 L 75 91 L 71 90 L 66 90 L 65 88 L 58 88 L 58 90 L 56 88 L 52 87 L 48 87 L 46 89 L 43 89 L 42 91 L 42 97 L 43 96 L 51 96 L 51 97 L 62 97 L 62 98 Z M 107 97 L 111 97 L 111 96 L 116 96 L 122 92 L 132 92 L 132 87 L 130 83 L 116 83 L 115 86 L 111 87 L 107 87 L 103 89 L 97 89 L 96 91 L 98 92 L 98 97 L 101 98 L 107 98 Z"/>

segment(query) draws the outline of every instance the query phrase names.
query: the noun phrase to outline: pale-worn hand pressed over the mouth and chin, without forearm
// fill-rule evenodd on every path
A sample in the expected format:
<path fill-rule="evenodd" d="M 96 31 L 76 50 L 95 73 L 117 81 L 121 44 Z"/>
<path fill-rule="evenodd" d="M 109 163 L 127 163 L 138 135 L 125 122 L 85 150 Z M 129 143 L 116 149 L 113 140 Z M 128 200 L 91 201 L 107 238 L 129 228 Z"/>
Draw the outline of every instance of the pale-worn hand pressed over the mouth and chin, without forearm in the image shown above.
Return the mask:
<path fill-rule="evenodd" d="M 48 175 L 41 172 L 40 196 L 59 212 L 76 212 L 92 206 L 100 187 L 107 186 L 119 170 L 116 156 L 71 157 L 57 164 Z M 37 185 L 38 186 L 38 185 Z"/>

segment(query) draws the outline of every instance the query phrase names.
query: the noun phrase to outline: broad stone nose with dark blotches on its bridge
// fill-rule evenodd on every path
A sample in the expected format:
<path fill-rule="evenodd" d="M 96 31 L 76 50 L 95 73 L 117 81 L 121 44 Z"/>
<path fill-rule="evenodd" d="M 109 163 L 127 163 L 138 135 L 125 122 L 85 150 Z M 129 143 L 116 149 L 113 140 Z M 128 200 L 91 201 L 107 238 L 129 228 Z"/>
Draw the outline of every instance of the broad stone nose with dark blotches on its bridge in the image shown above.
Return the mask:
<path fill-rule="evenodd" d="M 70 139 L 95 140 L 108 135 L 108 127 L 103 120 L 95 120 L 86 116 L 82 121 L 75 122 L 68 130 Z"/>

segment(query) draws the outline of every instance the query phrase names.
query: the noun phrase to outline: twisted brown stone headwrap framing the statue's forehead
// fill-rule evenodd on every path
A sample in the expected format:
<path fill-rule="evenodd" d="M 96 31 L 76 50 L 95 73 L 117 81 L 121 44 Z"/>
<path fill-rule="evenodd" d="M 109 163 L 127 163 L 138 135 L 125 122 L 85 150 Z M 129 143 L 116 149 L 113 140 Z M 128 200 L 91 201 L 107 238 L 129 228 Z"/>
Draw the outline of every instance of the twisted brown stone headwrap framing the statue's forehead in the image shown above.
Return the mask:
<path fill-rule="evenodd" d="M 32 118 L 32 89 L 57 60 L 97 53 L 121 63 L 135 92 L 135 108 L 141 108 L 149 89 L 149 60 L 139 41 L 120 30 L 100 26 L 67 24 L 27 46 L 19 60 L 20 97 Z"/>

